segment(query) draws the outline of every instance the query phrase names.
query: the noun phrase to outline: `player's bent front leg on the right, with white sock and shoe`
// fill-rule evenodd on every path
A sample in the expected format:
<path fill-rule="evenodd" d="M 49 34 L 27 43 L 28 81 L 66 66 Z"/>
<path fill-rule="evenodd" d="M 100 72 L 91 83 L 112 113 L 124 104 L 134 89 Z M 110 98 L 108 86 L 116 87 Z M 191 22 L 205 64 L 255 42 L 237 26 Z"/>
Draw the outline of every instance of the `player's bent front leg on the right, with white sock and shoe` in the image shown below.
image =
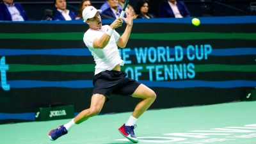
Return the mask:
<path fill-rule="evenodd" d="M 154 102 L 156 99 L 156 93 L 145 86 L 144 84 L 140 84 L 138 88 L 132 93 L 132 97 L 138 97 L 142 100 L 136 105 L 132 115 L 130 116 L 129 120 L 122 125 L 118 129 L 118 131 L 125 136 L 128 140 L 138 143 L 138 138 L 136 138 L 134 134 L 134 125 L 138 118 L 149 108 L 149 106 Z"/>

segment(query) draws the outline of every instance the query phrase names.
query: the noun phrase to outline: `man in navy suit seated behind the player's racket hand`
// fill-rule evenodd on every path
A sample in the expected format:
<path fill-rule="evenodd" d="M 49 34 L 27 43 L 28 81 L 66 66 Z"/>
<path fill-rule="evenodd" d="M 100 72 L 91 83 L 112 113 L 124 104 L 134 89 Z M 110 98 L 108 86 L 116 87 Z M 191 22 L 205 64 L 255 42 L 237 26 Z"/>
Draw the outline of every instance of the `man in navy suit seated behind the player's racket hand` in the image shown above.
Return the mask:
<path fill-rule="evenodd" d="M 107 10 L 104 10 L 102 14 L 108 15 L 109 17 L 113 17 L 114 19 L 120 17 L 122 9 L 118 8 L 118 0 L 108 0 L 108 4 L 110 7 Z M 125 14 L 124 17 L 126 17 Z"/>

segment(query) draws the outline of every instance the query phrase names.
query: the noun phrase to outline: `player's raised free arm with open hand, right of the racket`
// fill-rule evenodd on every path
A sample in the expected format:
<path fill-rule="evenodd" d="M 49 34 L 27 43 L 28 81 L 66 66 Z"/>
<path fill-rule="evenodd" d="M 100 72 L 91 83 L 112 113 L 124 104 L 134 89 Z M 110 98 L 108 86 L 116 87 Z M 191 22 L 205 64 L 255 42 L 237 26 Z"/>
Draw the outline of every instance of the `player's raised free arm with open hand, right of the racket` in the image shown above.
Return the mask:
<path fill-rule="evenodd" d="M 126 18 L 124 18 L 125 23 L 127 24 L 125 31 L 122 36 L 120 36 L 119 40 L 116 42 L 118 47 L 124 48 L 129 40 L 129 36 L 131 34 L 133 19 L 135 15 L 132 15 L 133 10 L 129 9 L 129 12 L 126 12 Z"/>

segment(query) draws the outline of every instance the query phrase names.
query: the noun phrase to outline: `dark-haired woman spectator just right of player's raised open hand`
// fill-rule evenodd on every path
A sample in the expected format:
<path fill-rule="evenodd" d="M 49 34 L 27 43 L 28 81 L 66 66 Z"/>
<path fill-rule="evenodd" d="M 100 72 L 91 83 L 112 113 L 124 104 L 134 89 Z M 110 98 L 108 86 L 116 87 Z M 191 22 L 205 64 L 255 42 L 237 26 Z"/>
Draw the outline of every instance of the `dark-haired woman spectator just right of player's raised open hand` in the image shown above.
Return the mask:
<path fill-rule="evenodd" d="M 147 0 L 140 0 L 136 4 L 136 19 L 150 19 L 150 18 L 155 18 L 156 16 L 148 13 L 149 10 L 149 1 Z"/>

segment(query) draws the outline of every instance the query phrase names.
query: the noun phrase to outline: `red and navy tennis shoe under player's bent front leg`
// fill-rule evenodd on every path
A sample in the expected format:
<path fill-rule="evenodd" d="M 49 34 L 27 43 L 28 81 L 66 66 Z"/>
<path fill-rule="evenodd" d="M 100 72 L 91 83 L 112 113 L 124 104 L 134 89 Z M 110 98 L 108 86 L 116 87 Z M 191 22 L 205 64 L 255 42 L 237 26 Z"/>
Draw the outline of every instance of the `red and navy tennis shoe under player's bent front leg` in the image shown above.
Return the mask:
<path fill-rule="evenodd" d="M 136 125 L 134 125 L 136 127 Z M 138 138 L 136 138 L 135 134 L 134 134 L 134 127 L 133 125 L 131 126 L 127 126 L 127 125 L 122 125 L 122 127 L 120 127 L 118 129 L 118 131 L 128 140 L 132 141 L 133 143 L 138 143 L 139 140 Z"/>

